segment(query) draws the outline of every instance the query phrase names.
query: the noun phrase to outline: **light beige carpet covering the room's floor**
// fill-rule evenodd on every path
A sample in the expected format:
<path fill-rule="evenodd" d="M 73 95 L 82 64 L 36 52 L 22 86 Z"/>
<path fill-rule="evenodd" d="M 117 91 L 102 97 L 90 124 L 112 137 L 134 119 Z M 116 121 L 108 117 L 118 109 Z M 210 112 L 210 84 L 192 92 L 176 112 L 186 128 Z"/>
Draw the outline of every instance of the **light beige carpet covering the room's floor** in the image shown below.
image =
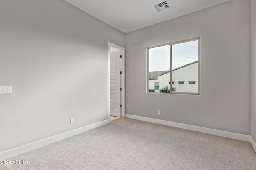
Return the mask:
<path fill-rule="evenodd" d="M 249 142 L 128 118 L 7 160 L 28 164 L 0 164 L 1 170 L 256 169 Z"/>

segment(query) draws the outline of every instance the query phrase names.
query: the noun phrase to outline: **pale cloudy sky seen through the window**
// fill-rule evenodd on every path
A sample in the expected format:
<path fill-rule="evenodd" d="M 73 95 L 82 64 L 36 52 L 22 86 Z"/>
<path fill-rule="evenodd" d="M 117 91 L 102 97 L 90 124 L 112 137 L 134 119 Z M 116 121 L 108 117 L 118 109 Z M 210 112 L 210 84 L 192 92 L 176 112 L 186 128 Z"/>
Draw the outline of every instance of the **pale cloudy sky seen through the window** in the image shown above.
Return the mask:
<path fill-rule="evenodd" d="M 149 71 L 170 70 L 170 45 L 149 49 Z M 198 61 L 198 40 L 172 45 L 172 70 Z"/>

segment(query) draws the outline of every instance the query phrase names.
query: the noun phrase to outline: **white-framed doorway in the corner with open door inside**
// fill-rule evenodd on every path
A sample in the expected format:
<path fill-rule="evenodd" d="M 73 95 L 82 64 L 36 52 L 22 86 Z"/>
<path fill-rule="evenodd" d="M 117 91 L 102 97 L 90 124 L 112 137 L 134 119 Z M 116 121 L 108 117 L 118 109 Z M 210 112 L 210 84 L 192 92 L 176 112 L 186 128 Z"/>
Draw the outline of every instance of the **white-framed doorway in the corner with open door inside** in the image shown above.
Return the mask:
<path fill-rule="evenodd" d="M 125 48 L 108 42 L 108 119 L 125 117 Z"/>

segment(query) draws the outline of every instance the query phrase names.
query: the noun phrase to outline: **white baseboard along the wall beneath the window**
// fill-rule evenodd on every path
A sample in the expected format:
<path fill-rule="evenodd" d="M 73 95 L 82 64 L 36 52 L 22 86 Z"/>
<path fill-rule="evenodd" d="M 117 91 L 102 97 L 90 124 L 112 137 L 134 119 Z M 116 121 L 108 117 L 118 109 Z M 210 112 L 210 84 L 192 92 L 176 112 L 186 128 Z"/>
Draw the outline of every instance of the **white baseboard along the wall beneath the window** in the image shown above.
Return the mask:
<path fill-rule="evenodd" d="M 165 121 L 165 120 L 160 120 L 160 119 L 152 119 L 152 118 L 141 117 L 141 116 L 136 116 L 136 115 L 126 114 L 125 117 L 130 118 L 130 119 L 137 119 L 137 120 L 141 120 L 141 121 L 147 121 L 147 122 L 151 122 L 151 123 L 158 123 L 158 124 L 161 124 L 161 125 L 179 127 L 179 128 L 182 128 L 182 129 L 188 129 L 188 130 L 192 130 L 192 131 L 209 133 L 209 134 L 212 134 L 212 135 L 218 135 L 218 136 L 222 136 L 222 137 L 228 137 L 228 138 L 238 139 L 238 140 L 247 141 L 247 142 L 250 142 L 250 137 L 251 137 L 250 135 L 243 135 L 243 134 L 240 134 L 240 133 L 220 131 L 220 130 L 210 129 L 210 128 L 206 128 L 206 127 L 187 125 L 187 124 L 183 124 L 183 123 L 176 123 L 176 122 Z"/>

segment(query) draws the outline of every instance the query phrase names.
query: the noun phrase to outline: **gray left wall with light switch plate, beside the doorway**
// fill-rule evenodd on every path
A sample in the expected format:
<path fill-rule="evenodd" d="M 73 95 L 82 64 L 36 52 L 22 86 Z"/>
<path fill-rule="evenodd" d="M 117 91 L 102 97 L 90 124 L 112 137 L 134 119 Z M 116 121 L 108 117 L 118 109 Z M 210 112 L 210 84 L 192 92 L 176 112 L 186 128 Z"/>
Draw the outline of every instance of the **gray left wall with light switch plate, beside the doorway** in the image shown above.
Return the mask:
<path fill-rule="evenodd" d="M 13 92 L 0 94 L 0 152 L 108 119 L 108 41 L 124 38 L 63 0 L 1 0 L 0 85 Z"/>

